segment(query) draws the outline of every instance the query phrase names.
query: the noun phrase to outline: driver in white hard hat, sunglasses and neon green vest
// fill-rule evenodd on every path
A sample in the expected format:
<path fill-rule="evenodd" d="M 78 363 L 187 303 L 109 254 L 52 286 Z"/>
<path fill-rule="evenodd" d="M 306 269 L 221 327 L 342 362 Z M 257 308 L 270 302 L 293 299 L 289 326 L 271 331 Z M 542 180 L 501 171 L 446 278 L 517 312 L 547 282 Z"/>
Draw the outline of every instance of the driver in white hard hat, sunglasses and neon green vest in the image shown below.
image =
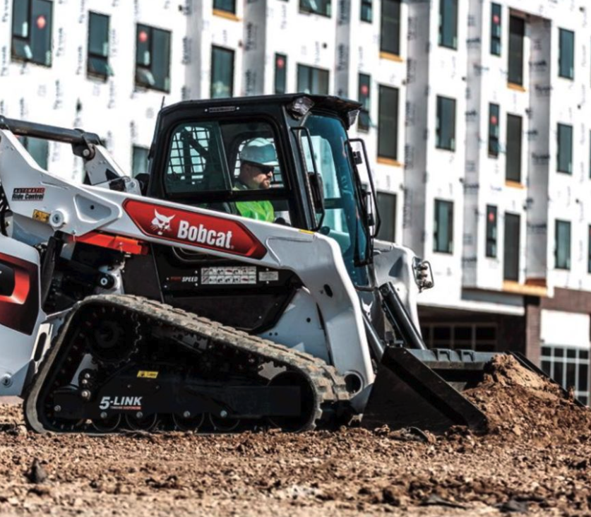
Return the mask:
<path fill-rule="evenodd" d="M 267 190 L 271 188 L 273 170 L 279 165 L 275 145 L 266 138 L 253 138 L 240 152 L 240 174 L 234 190 Z M 245 218 L 273 222 L 275 210 L 270 201 L 238 201 L 236 208 Z"/>

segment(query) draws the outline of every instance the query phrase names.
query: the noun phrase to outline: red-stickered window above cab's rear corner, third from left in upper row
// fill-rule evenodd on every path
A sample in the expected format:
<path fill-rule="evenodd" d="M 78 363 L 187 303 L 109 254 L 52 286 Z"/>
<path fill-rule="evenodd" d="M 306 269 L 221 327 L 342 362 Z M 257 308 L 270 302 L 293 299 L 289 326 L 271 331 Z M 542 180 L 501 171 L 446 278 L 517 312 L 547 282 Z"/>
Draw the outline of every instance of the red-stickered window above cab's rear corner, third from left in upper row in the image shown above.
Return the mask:
<path fill-rule="evenodd" d="M 170 91 L 170 32 L 138 24 L 136 85 Z"/>

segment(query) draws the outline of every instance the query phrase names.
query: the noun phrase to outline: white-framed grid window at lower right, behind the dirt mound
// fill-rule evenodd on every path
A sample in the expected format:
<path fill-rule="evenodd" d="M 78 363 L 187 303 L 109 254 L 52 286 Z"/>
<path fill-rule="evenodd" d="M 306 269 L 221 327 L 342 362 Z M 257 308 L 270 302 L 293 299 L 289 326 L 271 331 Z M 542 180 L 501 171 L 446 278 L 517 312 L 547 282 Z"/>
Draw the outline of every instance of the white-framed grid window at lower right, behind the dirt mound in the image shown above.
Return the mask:
<path fill-rule="evenodd" d="M 574 388 L 575 397 L 589 405 L 589 350 L 564 347 L 542 347 L 542 370 L 568 390 Z"/>

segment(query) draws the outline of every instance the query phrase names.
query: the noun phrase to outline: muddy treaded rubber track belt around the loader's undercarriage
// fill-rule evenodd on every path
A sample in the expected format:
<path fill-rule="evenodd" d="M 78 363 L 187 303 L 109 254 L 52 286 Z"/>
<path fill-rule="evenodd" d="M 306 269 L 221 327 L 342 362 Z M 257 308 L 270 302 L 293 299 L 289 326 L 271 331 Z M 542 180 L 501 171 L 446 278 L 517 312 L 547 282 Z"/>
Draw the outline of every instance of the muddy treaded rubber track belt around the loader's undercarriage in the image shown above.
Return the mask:
<path fill-rule="evenodd" d="M 314 429 L 316 424 L 322 419 L 325 410 L 330 409 L 330 412 L 333 412 L 340 403 L 347 403 L 347 400 L 350 400 L 350 395 L 345 387 L 345 380 L 338 374 L 334 367 L 326 364 L 322 359 L 143 297 L 134 295 L 98 295 L 88 297 L 74 305 L 71 314 L 68 315 L 68 319 L 61 326 L 59 333 L 62 334 L 67 330 L 68 320 L 75 311 L 81 309 L 85 304 L 91 304 L 93 302 L 136 311 L 140 316 L 147 319 L 160 320 L 166 325 L 178 328 L 180 331 L 195 333 L 213 342 L 223 343 L 226 347 L 234 347 L 251 355 L 261 357 L 265 362 L 275 362 L 276 364 L 289 367 L 291 370 L 297 370 L 301 374 L 304 374 L 309 379 L 311 386 L 314 386 L 317 403 L 316 415 L 311 419 L 309 427 L 302 430 Z M 63 345 L 60 337 L 55 340 L 54 345 L 48 350 L 44 363 L 51 361 L 52 357 L 55 357 L 56 347 Z M 50 364 L 42 364 L 37 376 L 35 376 L 35 381 L 32 382 L 29 396 L 25 400 L 26 420 L 37 432 L 55 432 L 53 429 L 40 429 L 40 422 L 36 417 L 36 398 L 40 393 L 41 384 L 50 367 Z M 30 396 L 33 397 L 32 400 L 30 400 Z M 27 415 L 30 411 L 35 412 L 33 418 L 28 417 L 32 415 Z M 35 425 L 35 422 L 37 422 L 37 425 Z"/>

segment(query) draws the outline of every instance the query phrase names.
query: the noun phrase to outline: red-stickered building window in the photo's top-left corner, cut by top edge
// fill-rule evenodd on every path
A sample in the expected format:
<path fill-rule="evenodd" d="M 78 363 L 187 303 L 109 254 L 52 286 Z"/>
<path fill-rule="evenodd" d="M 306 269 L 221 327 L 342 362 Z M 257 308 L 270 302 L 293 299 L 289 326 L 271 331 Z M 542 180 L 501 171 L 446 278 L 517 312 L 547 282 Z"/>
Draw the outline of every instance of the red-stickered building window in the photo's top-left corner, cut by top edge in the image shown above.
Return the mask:
<path fill-rule="evenodd" d="M 13 59 L 52 66 L 52 6 L 48 0 L 13 1 Z"/>

